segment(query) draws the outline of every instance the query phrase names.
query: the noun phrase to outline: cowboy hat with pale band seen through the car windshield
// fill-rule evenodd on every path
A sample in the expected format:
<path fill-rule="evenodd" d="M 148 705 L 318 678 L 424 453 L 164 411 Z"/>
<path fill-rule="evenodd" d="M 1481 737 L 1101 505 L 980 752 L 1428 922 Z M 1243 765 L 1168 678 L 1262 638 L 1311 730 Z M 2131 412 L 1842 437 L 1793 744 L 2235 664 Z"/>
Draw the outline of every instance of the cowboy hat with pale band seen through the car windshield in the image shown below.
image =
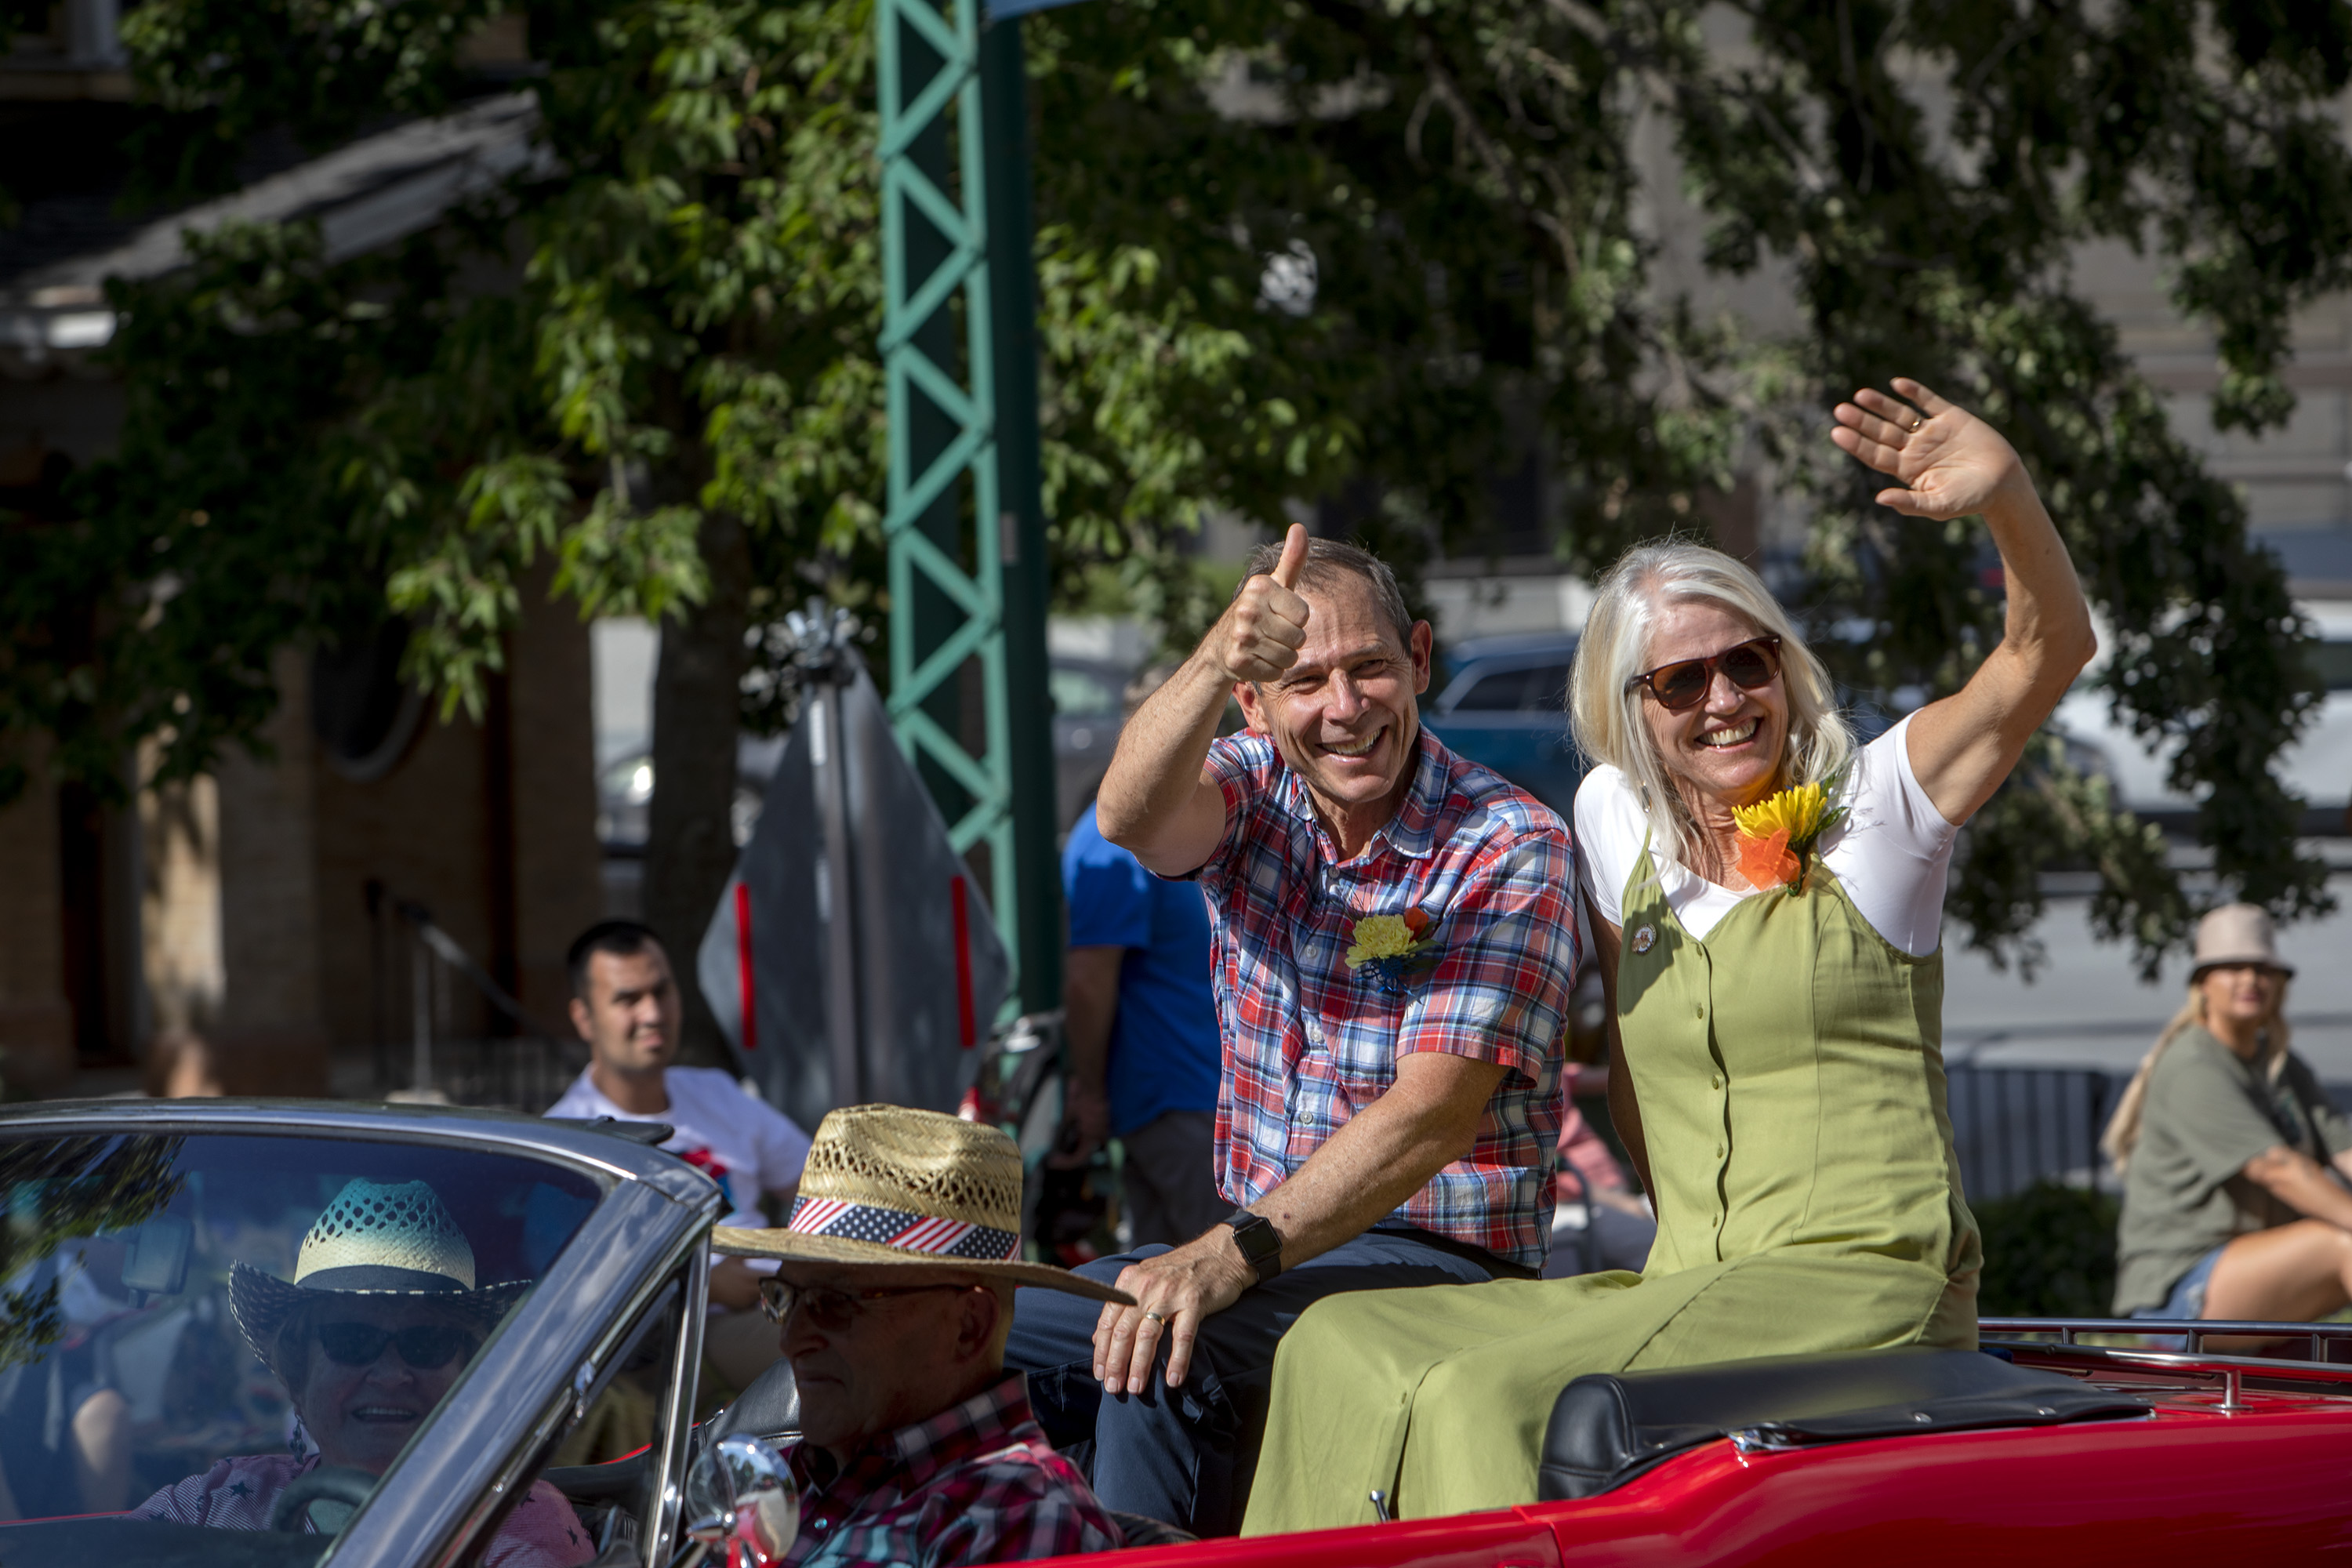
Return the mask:
<path fill-rule="evenodd" d="M 473 1246 L 433 1187 L 362 1175 L 334 1194 L 301 1239 L 292 1284 L 249 1262 L 230 1265 L 228 1312 L 254 1354 L 273 1361 L 287 1316 L 327 1295 L 423 1298 L 489 1328 L 529 1288 L 527 1279 L 475 1286 Z"/>

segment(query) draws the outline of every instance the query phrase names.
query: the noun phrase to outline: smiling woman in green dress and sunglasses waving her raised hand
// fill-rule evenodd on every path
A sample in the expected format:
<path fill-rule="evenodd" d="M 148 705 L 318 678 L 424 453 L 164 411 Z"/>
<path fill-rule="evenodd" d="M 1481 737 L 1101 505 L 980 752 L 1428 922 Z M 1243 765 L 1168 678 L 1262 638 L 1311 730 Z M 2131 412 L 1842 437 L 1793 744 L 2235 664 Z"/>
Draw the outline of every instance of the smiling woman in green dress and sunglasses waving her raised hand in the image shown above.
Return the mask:
<path fill-rule="evenodd" d="M 1856 748 L 1764 583 L 1700 545 L 1632 550 L 1585 621 L 1578 882 L 1611 1117 L 1658 1206 L 1649 1267 L 1310 1307 L 1244 1533 L 1369 1523 L 1371 1493 L 1397 1516 L 1531 1502 L 1583 1373 L 1976 1342 L 1945 867 L 2096 642 L 2009 442 L 1915 381 L 1893 393 L 1839 404 L 1832 440 L 1900 480 L 1882 505 L 1980 512 L 2006 571 L 2002 644 L 1962 691 Z"/>

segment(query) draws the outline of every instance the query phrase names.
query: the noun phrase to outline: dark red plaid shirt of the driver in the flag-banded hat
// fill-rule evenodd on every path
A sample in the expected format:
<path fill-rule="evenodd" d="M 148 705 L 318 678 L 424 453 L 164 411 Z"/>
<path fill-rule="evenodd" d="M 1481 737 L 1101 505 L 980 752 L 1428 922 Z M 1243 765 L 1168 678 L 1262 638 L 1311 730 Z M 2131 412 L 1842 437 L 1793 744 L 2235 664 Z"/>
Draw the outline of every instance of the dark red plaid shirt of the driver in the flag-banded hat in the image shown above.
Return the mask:
<path fill-rule="evenodd" d="M 1077 1467 L 1044 1441 L 1021 1373 L 875 1439 L 844 1467 L 807 1443 L 788 1460 L 800 1535 L 786 1568 L 1018 1563 L 1124 1544 Z"/>

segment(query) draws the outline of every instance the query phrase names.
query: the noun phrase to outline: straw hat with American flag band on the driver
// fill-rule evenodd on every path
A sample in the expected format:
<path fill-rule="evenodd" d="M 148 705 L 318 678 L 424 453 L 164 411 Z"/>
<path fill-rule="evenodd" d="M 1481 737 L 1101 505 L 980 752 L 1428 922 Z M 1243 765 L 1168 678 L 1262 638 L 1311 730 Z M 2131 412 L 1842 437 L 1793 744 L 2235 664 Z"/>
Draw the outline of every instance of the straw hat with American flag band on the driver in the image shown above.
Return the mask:
<path fill-rule="evenodd" d="M 847 1105 L 809 1145 L 783 1229 L 720 1225 L 734 1258 L 978 1274 L 1134 1307 L 1084 1274 L 1021 1262 L 1021 1150 L 993 1126 L 903 1105 Z"/>

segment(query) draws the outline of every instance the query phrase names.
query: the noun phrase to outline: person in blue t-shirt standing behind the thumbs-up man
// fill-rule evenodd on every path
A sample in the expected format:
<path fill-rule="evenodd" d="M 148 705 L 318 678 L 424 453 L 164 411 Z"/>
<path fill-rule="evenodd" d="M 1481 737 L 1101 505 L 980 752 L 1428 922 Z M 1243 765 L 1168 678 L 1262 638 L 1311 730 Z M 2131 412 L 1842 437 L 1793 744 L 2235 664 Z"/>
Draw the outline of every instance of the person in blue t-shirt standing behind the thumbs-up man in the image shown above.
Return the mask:
<path fill-rule="evenodd" d="M 1127 691 L 1127 710 L 1167 668 Z M 1070 903 L 1063 1004 L 1070 1121 L 1084 1159 L 1127 1145 L 1129 1246 L 1200 1237 L 1232 1208 L 1216 1190 L 1216 999 L 1209 992 L 1209 905 L 1197 882 L 1164 882 L 1103 839 L 1094 806 L 1061 851 Z"/>

